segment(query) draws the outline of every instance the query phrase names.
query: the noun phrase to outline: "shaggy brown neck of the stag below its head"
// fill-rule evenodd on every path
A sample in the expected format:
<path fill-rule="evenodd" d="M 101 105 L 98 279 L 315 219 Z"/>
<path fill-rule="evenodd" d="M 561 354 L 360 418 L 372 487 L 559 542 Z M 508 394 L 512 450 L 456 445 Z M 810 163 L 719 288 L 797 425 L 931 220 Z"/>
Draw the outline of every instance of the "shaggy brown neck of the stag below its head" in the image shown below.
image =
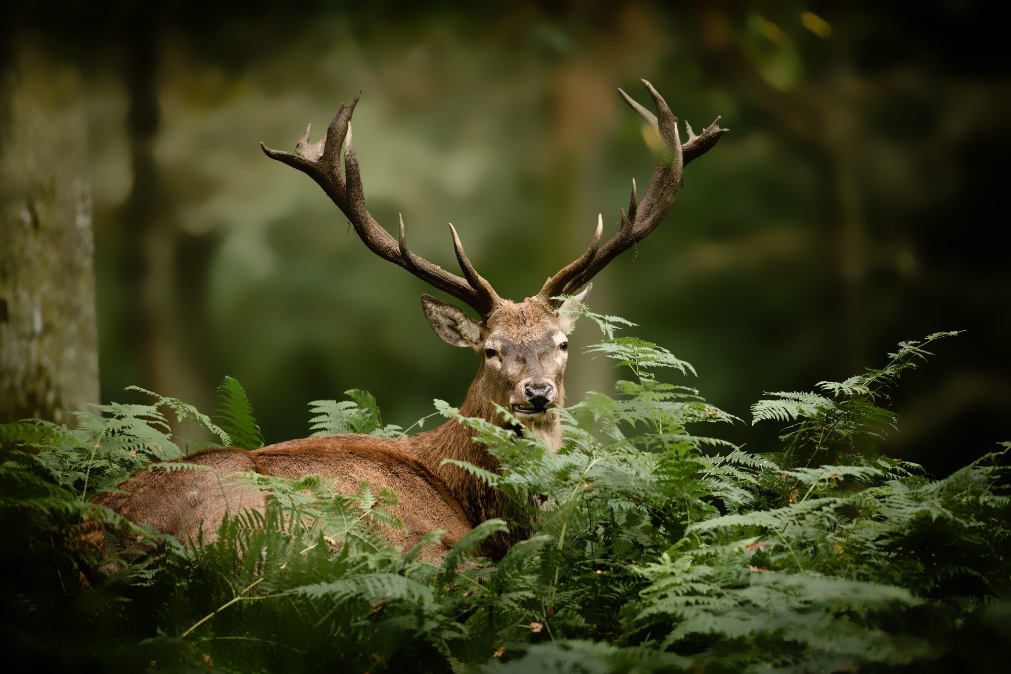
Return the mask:
<path fill-rule="evenodd" d="M 558 404 L 562 403 L 562 392 L 559 392 Z M 505 423 L 495 410 L 482 386 L 481 373 L 470 385 L 467 399 L 460 406 L 460 414 L 465 417 L 478 417 L 493 424 L 504 426 Z M 524 427 L 521 432 L 537 433 L 554 450 L 561 446 L 562 429 L 556 415 L 548 414 L 543 419 Z M 473 441 L 473 431 L 461 425 L 455 419 L 450 419 L 431 431 L 419 433 L 410 439 L 411 453 L 418 457 L 430 471 L 442 478 L 450 493 L 460 503 L 472 525 L 477 525 L 491 517 L 502 517 L 504 504 L 501 493 L 488 487 L 484 482 L 474 477 L 458 466 L 443 466 L 446 458 L 473 464 L 485 471 L 496 471 L 498 459 L 492 456 L 484 444 Z"/>

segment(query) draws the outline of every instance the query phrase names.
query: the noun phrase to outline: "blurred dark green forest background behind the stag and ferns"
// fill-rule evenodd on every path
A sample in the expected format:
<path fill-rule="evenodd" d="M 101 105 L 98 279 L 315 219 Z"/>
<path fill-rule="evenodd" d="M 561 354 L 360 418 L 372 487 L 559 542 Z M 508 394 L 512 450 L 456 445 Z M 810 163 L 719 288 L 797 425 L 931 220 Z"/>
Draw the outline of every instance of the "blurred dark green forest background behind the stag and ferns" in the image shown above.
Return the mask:
<path fill-rule="evenodd" d="M 459 403 L 477 362 L 429 330 L 431 288 L 259 142 L 291 150 L 306 122 L 318 138 L 361 88 L 372 214 L 392 230 L 402 213 L 411 249 L 455 269 L 452 222 L 522 300 L 648 181 L 654 158 L 616 91 L 647 102 L 641 77 L 697 130 L 721 114 L 731 133 L 687 168 L 667 222 L 598 276 L 593 311 L 640 324 L 697 366 L 683 383 L 745 419 L 763 391 L 964 329 L 908 375 L 892 450 L 942 475 L 1007 439 L 996 5 L 57 2 L 0 16 L 3 58 L 86 107 L 103 402 L 135 384 L 210 410 L 231 374 L 268 442 L 306 435 L 306 403 L 351 388 L 402 426 L 434 398 Z M 616 376 L 573 357 L 569 401 Z"/>

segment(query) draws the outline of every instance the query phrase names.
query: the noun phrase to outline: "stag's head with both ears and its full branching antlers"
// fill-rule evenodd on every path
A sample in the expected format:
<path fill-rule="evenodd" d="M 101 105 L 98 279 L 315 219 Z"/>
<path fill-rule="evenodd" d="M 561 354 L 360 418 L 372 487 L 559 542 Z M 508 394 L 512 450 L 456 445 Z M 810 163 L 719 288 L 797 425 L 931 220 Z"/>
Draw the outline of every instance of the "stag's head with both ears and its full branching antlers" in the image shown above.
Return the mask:
<path fill-rule="evenodd" d="M 589 280 L 611 260 L 642 241 L 664 219 L 681 186 L 684 165 L 709 151 L 727 132 L 717 117 L 702 134 L 685 123 L 688 140 L 683 145 L 677 119 L 653 86 L 642 81 L 656 105 L 657 114 L 641 106 L 619 89 L 625 101 L 641 114 L 663 139 L 649 188 L 642 200 L 632 181 L 628 213 L 621 210 L 618 231 L 601 245 L 604 219 L 598 217 L 596 231 L 589 247 L 578 259 L 563 267 L 544 283 L 541 290 L 522 303 L 502 300 L 474 270 L 456 229 L 450 225 L 453 248 L 463 276 L 415 255 L 407 249 L 403 218 L 398 239 L 383 229 L 365 207 L 361 172 L 352 142 L 351 115 L 361 91 L 350 105 L 341 105 L 327 136 L 309 143 L 311 124 L 296 145 L 295 153 L 279 152 L 260 144 L 268 157 L 308 174 L 351 221 L 355 232 L 373 253 L 403 267 L 434 287 L 473 308 L 475 320 L 459 308 L 422 297 L 422 307 L 435 333 L 446 343 L 473 349 L 481 364 L 467 395 L 462 412 L 495 420 L 495 405 L 509 409 L 524 425 L 550 432 L 557 427 L 549 412 L 562 404 L 568 342 L 574 317 L 568 311 L 582 303 L 592 284 Z M 341 149 L 344 148 L 344 172 Z M 582 288 L 581 291 L 580 288 Z M 574 296 L 560 300 L 558 296 Z M 559 438 L 560 439 L 560 438 Z"/>

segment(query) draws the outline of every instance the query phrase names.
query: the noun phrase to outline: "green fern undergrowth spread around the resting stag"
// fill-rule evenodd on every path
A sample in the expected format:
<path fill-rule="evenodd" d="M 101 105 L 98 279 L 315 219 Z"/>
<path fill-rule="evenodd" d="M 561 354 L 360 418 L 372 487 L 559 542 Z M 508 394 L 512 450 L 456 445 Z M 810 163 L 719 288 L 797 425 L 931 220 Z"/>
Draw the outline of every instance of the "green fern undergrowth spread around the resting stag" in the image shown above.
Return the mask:
<path fill-rule="evenodd" d="M 342 494 L 321 476 L 227 476 L 269 494 L 265 510 L 186 544 L 91 503 L 145 462 L 203 468 L 170 460 L 199 446 L 174 428 L 260 446 L 229 377 L 217 422 L 134 389 L 152 404 L 99 406 L 73 430 L 0 426 L 18 634 L 109 670 L 920 671 L 1003 657 L 1011 443 L 942 479 L 879 451 L 897 424 L 886 390 L 952 333 L 903 342 L 884 367 L 810 393 L 768 394 L 752 424 L 785 428 L 750 453 L 719 437 L 737 417 L 656 375 L 691 365 L 616 337 L 622 319 L 577 313 L 604 334 L 591 352 L 627 376 L 558 412 L 557 451 L 518 434 L 509 410 L 496 424 L 435 402 L 497 470 L 446 465 L 501 492 L 509 522 L 480 523 L 439 565 L 421 558 L 441 531 L 409 551 L 389 544 L 397 496 L 366 482 Z M 404 434 L 370 395 L 346 395 L 310 404 L 313 432 Z M 82 542 L 102 531 L 112 560 Z M 479 557 L 502 541 L 515 542 L 496 564 Z M 101 588 L 81 580 L 110 563 L 118 573 Z M 983 646 L 962 648 L 969 630 Z"/>

